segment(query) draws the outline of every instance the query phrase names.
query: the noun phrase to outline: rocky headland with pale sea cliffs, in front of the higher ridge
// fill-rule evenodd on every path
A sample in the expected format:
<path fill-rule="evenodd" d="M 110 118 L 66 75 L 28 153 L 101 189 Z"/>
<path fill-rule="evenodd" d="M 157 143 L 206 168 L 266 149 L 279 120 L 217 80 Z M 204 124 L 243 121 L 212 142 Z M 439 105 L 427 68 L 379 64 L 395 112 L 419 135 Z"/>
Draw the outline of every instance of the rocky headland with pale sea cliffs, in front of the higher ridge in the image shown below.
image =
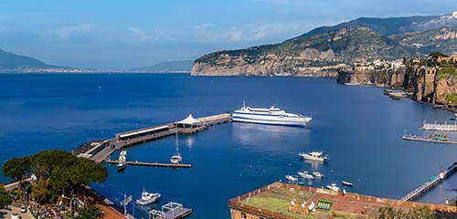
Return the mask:
<path fill-rule="evenodd" d="M 411 54 L 408 47 L 368 27 L 343 27 L 276 45 L 210 53 L 194 62 L 191 75 L 335 76 L 339 64 Z"/>

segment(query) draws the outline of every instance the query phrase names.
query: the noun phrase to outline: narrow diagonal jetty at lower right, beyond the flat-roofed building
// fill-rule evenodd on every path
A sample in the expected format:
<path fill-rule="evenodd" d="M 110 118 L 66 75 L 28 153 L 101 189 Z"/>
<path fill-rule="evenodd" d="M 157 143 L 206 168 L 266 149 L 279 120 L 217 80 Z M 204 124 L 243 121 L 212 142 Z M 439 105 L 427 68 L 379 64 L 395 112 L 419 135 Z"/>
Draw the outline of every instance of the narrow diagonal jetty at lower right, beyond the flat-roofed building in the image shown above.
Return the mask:
<path fill-rule="evenodd" d="M 397 204 L 402 204 L 402 203 L 405 203 L 405 202 L 408 202 L 408 201 L 411 201 L 413 199 L 420 197 L 423 193 L 425 193 L 428 190 L 430 190 L 431 188 L 433 188 L 433 186 L 440 183 L 446 177 L 452 175 L 452 173 L 455 172 L 456 169 L 457 169 L 457 162 L 454 162 L 450 167 L 446 168 L 445 170 L 440 172 L 438 175 L 436 175 L 433 180 L 423 183 L 422 185 L 420 185 L 418 188 L 416 188 L 412 192 L 407 193 L 405 196 L 400 198 L 399 201 L 397 202 Z"/>

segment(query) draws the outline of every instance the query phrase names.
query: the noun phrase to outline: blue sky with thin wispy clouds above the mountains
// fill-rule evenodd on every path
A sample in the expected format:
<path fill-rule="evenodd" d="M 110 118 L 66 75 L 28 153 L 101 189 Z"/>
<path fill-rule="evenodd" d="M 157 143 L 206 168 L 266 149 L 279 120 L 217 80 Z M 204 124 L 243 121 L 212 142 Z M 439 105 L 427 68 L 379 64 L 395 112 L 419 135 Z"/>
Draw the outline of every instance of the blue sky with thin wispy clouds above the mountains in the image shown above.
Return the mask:
<path fill-rule="evenodd" d="M 2 0 L 0 48 L 58 66 L 128 69 L 278 43 L 361 16 L 455 10 L 455 0 Z"/>

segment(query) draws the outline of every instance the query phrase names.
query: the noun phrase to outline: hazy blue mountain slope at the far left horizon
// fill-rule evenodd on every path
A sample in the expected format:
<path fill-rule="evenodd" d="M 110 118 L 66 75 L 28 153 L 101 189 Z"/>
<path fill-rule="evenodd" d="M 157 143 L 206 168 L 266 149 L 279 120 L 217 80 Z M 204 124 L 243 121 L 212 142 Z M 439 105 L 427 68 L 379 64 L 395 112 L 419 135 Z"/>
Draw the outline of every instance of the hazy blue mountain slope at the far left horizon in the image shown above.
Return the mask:
<path fill-rule="evenodd" d="M 48 65 L 37 58 L 19 56 L 0 49 L 0 69 L 17 68 L 56 68 Z"/>

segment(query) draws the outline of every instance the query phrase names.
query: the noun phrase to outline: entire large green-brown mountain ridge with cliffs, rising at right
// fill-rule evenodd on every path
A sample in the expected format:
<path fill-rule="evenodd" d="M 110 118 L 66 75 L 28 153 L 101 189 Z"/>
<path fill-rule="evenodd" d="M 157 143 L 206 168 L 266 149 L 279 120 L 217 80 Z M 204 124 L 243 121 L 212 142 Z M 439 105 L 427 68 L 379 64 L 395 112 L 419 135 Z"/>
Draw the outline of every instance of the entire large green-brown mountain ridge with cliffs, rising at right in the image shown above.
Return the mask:
<path fill-rule="evenodd" d="M 457 12 L 363 17 L 321 26 L 280 44 L 209 53 L 197 58 L 191 74 L 323 76 L 329 69 L 335 73 L 339 64 L 417 57 L 433 50 L 456 53 L 455 27 Z"/>

